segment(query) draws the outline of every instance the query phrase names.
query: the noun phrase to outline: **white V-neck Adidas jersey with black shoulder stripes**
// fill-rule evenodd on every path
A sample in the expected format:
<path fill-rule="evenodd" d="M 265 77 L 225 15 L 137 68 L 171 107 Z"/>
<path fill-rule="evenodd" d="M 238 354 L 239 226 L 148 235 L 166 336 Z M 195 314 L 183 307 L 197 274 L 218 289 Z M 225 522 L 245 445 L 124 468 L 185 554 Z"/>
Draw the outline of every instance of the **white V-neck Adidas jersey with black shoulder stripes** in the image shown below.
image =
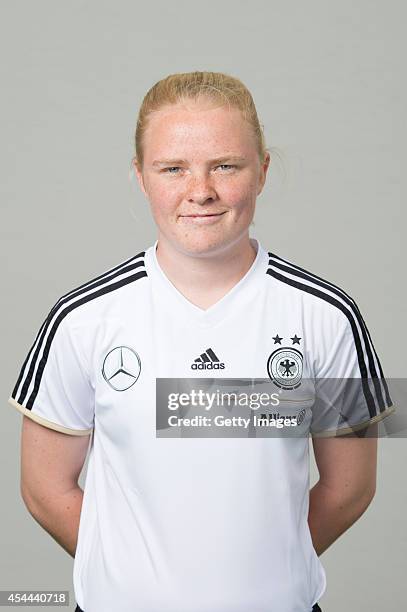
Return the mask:
<path fill-rule="evenodd" d="M 354 300 L 251 242 L 251 268 L 207 310 L 169 281 L 156 242 L 63 295 L 21 367 L 15 408 L 92 433 L 73 570 L 85 612 L 311 612 L 325 591 L 307 521 L 309 436 L 394 408 Z M 296 437 L 171 435 L 157 408 L 171 381 L 268 380 L 287 396 L 329 378 L 363 381 L 340 398 L 346 419 L 324 428 L 301 405 Z"/>

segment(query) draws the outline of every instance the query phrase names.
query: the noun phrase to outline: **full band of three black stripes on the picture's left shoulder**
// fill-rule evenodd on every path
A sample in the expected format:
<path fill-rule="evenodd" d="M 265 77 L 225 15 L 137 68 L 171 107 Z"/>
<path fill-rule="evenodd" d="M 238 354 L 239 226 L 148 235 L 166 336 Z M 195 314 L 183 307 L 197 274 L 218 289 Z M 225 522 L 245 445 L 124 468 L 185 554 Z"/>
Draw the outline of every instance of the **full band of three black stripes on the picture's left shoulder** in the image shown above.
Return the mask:
<path fill-rule="evenodd" d="M 119 289 L 120 287 L 133 283 L 139 280 L 140 278 L 147 277 L 147 272 L 143 267 L 144 266 L 144 253 L 145 252 L 142 251 L 135 257 L 132 257 L 130 260 L 122 264 L 119 264 L 115 268 L 108 270 L 107 272 L 101 274 L 97 278 L 87 283 L 84 283 L 83 285 L 81 285 L 80 287 L 77 287 L 76 289 L 73 289 L 72 291 L 62 296 L 56 302 L 56 304 L 50 310 L 48 316 L 46 317 L 45 321 L 43 322 L 37 334 L 37 337 L 21 368 L 19 378 L 14 387 L 12 397 L 19 404 L 23 405 L 23 402 L 25 401 L 26 396 L 28 394 L 28 390 L 29 390 L 31 381 L 33 380 L 34 372 L 36 371 L 33 390 L 25 405 L 25 407 L 28 410 L 31 410 L 34 400 L 38 394 L 42 374 L 43 374 L 43 371 L 44 371 L 44 368 L 45 368 L 45 365 L 48 359 L 48 355 L 49 355 L 49 351 L 51 348 L 53 338 L 55 336 L 55 333 L 61 321 L 67 316 L 67 314 L 69 314 L 69 312 L 71 312 L 75 308 L 78 308 L 82 304 L 85 304 L 102 295 L 115 291 L 116 289 Z M 142 259 L 138 261 L 139 258 L 142 258 Z M 130 274 L 129 276 L 124 276 L 123 278 L 119 278 L 123 274 L 131 272 L 133 270 L 135 271 L 134 274 Z M 109 282 L 115 278 L 118 279 L 116 282 Z M 109 282 L 109 284 L 106 284 L 107 282 Z M 94 289 L 97 289 L 97 290 L 89 293 L 89 291 L 94 290 Z M 71 302 L 72 299 L 74 301 Z M 57 314 L 58 311 L 59 311 L 59 314 Z M 48 330 L 49 330 L 49 333 L 47 335 Z M 43 347 L 43 353 L 40 359 L 39 355 L 41 353 L 42 347 Z M 30 356 L 32 356 L 31 363 L 30 363 L 28 371 L 24 374 L 25 368 L 30 360 Z M 24 378 L 24 382 L 23 382 L 20 394 L 18 395 L 18 389 L 20 387 L 20 384 L 23 378 Z M 17 398 L 17 395 L 18 395 L 18 398 Z"/>

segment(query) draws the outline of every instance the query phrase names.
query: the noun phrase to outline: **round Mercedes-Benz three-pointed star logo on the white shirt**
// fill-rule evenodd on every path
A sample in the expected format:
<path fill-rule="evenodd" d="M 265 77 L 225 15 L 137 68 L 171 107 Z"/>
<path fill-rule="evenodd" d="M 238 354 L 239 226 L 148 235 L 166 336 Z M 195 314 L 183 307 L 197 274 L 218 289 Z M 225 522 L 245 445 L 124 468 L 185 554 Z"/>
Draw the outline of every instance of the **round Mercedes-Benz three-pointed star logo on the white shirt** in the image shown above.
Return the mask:
<path fill-rule="evenodd" d="M 129 346 L 116 346 L 103 361 L 103 378 L 115 391 L 126 391 L 132 387 L 140 371 L 140 357 Z"/>

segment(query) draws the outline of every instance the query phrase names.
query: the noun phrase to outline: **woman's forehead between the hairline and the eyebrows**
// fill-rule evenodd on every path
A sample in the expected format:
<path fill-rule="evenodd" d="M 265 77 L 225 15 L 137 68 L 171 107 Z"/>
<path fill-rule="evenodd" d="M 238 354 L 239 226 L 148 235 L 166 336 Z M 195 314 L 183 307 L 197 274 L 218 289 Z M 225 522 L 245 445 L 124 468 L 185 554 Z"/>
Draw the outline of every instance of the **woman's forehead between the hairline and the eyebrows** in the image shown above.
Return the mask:
<path fill-rule="evenodd" d="M 186 101 L 165 106 L 152 113 L 144 136 L 145 156 L 159 152 L 170 154 L 214 147 L 248 153 L 255 148 L 254 135 L 241 111 L 228 105 L 215 106 L 210 101 Z"/>

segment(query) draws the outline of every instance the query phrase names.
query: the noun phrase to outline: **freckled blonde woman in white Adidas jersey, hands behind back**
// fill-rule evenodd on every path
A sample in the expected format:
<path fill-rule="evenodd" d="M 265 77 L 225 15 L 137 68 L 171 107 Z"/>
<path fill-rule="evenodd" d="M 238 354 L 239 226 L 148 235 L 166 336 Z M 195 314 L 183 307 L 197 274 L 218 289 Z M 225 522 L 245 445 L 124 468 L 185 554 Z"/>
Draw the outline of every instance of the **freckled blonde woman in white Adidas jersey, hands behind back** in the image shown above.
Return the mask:
<path fill-rule="evenodd" d="M 157 240 L 62 296 L 21 368 L 23 498 L 75 557 L 78 611 L 320 610 L 319 556 L 374 496 L 377 440 L 346 434 L 393 411 L 382 368 L 352 298 L 249 237 L 269 163 L 240 80 L 156 83 L 134 172 Z M 307 380 L 328 378 L 363 384 L 346 421 L 322 427 L 301 402 Z M 302 433 L 225 419 L 192 431 L 188 384 L 196 398 L 230 380 L 268 381 L 286 404 L 262 405 L 267 423 L 288 406 Z"/>

